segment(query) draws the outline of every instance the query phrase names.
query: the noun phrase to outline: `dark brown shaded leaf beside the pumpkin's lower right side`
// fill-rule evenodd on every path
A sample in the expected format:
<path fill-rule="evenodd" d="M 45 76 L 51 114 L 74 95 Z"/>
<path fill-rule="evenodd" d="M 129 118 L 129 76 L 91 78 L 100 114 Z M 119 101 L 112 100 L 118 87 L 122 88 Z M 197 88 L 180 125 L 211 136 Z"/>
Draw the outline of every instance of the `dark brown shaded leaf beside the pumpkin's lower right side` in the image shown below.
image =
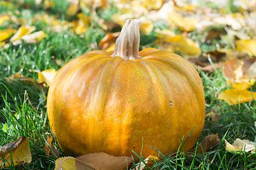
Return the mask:
<path fill-rule="evenodd" d="M 200 145 L 196 148 L 191 149 L 188 152 L 196 152 L 197 154 L 203 154 L 203 152 L 210 152 L 215 149 L 218 144 L 220 143 L 220 139 L 218 138 L 218 134 L 215 135 L 208 135 L 206 138 L 201 142 Z"/>

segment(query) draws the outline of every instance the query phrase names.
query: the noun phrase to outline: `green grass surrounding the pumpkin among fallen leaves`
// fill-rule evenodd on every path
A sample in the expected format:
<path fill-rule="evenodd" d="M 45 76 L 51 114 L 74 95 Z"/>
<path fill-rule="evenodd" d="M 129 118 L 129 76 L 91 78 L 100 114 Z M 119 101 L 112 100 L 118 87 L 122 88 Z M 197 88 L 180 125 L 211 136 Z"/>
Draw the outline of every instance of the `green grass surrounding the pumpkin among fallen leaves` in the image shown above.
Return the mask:
<path fill-rule="evenodd" d="M 60 1 L 56 2 L 58 3 L 55 4 L 54 8 L 47 9 L 47 12 L 63 20 L 67 3 L 65 1 L 64 4 L 60 4 Z M 11 3 L 9 6 L 0 4 L 1 13 L 12 11 L 17 17 L 26 16 L 29 21 L 37 13 L 46 11 L 43 6 L 34 8 L 32 0 L 26 1 L 25 7 L 22 7 L 21 4 L 14 4 Z M 232 4 L 230 6 L 232 7 Z M 231 8 L 230 6 L 228 8 Z M 16 8 L 20 11 L 21 16 L 15 14 Z M 101 11 L 100 17 L 106 17 L 105 19 L 110 21 L 112 14 L 113 11 L 112 13 Z M 17 23 L 11 22 L 4 23 L 0 28 L 4 29 L 9 26 L 18 28 Z M 0 145 L 14 141 L 22 135 L 32 139 L 29 140 L 32 162 L 5 169 L 53 169 L 55 167 L 55 159 L 51 155 L 47 157 L 44 149 L 48 135 L 53 135 L 48 125 L 46 111 L 48 89 L 38 89 L 31 82 L 9 80 L 6 77 L 20 72 L 25 77 L 37 80 L 38 75 L 34 72 L 35 70 L 60 69 L 63 64 L 73 58 L 90 50 L 96 50 L 97 42 L 105 35 L 104 30 L 96 23 L 92 24 L 87 33 L 82 35 L 82 38 L 68 30 L 53 33 L 46 24 L 39 21 L 34 23 L 34 26 L 37 30 L 44 30 L 47 34 L 47 37 L 43 38 L 41 42 L 37 44 L 22 42 L 21 45 L 10 45 L 9 48 L 0 50 Z M 159 28 L 161 27 L 165 28 L 166 26 L 159 26 Z M 142 46 L 154 42 L 155 38 L 154 32 L 147 36 L 142 35 Z M 203 42 L 201 47 L 205 51 L 215 50 L 214 45 L 209 46 Z M 56 60 L 62 62 L 57 64 Z M 255 169 L 255 154 L 227 152 L 224 139 L 233 142 L 239 137 L 240 139 L 255 141 L 256 102 L 251 101 L 228 106 L 227 103 L 219 101 L 215 97 L 215 94 L 225 85 L 225 78 L 221 70 L 211 74 L 200 71 L 199 73 L 206 96 L 206 113 L 213 111 L 221 115 L 221 118 L 215 122 L 206 118 L 205 127 L 198 144 L 207 135 L 218 133 L 221 140 L 220 145 L 213 151 L 203 154 L 183 154 L 182 150 L 174 155 L 161 155 L 159 153 L 162 156 L 161 160 L 156 161 L 153 166 L 146 166 L 145 169 Z M 252 90 L 255 90 L 255 86 L 252 86 Z M 61 151 L 56 142 L 53 145 Z M 60 157 L 64 156 L 66 155 L 61 152 Z M 134 167 L 144 164 L 144 158 L 139 157 L 139 159 L 141 161 L 134 164 Z"/>

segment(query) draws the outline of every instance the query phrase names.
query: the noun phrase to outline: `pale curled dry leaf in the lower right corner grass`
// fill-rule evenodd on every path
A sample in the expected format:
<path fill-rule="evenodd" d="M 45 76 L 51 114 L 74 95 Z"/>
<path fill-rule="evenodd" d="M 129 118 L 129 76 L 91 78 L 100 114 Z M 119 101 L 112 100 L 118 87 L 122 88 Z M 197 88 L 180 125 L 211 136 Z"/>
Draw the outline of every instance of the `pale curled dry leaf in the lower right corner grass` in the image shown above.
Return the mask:
<path fill-rule="evenodd" d="M 233 152 L 252 152 L 255 153 L 255 142 L 250 140 L 240 140 L 237 138 L 232 145 L 225 140 L 226 150 Z"/>

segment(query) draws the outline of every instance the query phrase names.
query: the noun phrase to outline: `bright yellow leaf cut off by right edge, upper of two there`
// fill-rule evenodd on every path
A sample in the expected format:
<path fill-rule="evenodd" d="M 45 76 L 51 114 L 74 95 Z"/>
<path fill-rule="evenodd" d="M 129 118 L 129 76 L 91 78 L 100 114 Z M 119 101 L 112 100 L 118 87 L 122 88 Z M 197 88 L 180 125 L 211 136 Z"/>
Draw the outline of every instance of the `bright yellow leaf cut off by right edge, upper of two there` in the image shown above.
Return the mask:
<path fill-rule="evenodd" d="M 236 40 L 235 45 L 239 52 L 247 52 L 256 56 L 256 40 Z"/>

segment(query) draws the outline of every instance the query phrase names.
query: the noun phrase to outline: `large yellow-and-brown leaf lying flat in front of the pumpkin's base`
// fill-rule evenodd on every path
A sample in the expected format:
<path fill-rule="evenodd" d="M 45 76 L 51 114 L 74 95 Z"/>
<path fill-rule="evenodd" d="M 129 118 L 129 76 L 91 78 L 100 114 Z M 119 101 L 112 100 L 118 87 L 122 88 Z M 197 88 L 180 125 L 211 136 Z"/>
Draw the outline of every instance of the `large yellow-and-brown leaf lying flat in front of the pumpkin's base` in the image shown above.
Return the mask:
<path fill-rule="evenodd" d="M 85 154 L 81 157 L 63 157 L 55 161 L 55 170 L 120 170 L 127 169 L 132 157 L 114 157 L 105 153 Z"/>

